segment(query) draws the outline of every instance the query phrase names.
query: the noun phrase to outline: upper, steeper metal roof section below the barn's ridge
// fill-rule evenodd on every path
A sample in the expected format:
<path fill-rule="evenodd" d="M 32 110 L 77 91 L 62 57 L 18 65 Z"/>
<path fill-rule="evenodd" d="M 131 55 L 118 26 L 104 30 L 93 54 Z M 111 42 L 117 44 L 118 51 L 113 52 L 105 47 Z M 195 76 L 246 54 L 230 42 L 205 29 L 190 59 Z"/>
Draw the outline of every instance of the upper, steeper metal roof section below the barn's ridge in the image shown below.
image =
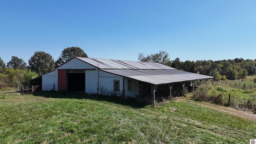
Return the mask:
<path fill-rule="evenodd" d="M 157 62 L 135 62 L 128 60 L 108 60 L 100 58 L 82 58 L 76 57 L 88 64 L 91 64 L 100 69 L 152 69 L 152 70 L 175 70 L 164 64 L 159 64 Z"/>

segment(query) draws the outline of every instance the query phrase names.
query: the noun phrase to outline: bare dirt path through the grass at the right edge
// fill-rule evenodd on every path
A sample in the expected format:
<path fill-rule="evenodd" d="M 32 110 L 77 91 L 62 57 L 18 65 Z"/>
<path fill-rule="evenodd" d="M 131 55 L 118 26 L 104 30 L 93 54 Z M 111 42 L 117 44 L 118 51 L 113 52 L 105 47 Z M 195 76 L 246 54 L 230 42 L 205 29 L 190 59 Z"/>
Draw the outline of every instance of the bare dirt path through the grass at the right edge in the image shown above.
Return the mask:
<path fill-rule="evenodd" d="M 176 101 L 185 101 L 185 102 L 189 102 L 189 103 L 193 103 L 193 104 L 199 104 L 201 106 L 212 108 L 212 109 L 218 110 L 220 112 L 225 112 L 225 113 L 231 114 L 233 116 L 238 116 L 238 117 L 245 118 L 245 119 L 252 120 L 252 121 L 256 122 L 256 114 L 253 114 L 253 112 L 236 110 L 234 108 L 219 106 L 216 104 L 211 104 L 209 102 L 195 102 L 193 100 L 188 100 L 185 98 L 176 98 L 175 100 Z"/>

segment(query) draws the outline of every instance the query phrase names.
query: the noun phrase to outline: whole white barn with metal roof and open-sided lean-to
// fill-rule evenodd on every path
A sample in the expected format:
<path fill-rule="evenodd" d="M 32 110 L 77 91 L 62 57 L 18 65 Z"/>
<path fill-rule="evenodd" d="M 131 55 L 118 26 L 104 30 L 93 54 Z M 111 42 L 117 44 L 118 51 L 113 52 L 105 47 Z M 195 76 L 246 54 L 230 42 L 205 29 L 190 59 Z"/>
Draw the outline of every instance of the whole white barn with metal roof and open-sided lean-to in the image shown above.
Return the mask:
<path fill-rule="evenodd" d="M 42 86 L 52 85 L 56 91 L 155 99 L 157 95 L 171 98 L 182 94 L 196 80 L 210 78 L 155 62 L 75 57 L 39 80 Z"/>

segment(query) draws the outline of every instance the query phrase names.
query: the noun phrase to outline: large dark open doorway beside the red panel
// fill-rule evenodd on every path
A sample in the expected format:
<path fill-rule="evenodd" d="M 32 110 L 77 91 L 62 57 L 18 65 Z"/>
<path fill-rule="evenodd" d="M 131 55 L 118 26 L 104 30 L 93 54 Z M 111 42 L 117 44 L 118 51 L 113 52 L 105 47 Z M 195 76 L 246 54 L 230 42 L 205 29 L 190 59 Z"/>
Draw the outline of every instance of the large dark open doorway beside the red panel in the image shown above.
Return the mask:
<path fill-rule="evenodd" d="M 68 73 L 68 91 L 85 92 L 85 73 Z"/>

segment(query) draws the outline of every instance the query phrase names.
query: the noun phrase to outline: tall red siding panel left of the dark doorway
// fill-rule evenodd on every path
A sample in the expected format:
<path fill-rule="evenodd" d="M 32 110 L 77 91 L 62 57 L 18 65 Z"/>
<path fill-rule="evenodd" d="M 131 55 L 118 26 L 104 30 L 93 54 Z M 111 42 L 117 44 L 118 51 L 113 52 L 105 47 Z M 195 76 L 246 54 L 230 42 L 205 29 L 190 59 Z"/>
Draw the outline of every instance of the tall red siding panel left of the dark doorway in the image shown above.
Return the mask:
<path fill-rule="evenodd" d="M 58 91 L 67 90 L 67 70 L 58 70 Z"/>

